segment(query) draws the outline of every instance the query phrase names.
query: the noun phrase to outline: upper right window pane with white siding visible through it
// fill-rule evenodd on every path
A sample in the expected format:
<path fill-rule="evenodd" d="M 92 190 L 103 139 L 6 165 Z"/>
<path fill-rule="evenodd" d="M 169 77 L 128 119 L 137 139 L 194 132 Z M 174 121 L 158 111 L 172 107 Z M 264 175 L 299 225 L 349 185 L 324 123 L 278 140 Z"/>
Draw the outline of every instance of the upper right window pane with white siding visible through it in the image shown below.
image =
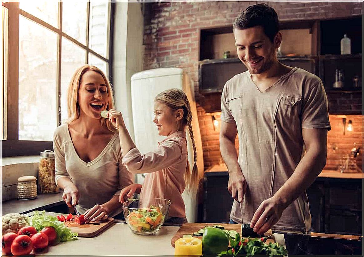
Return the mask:
<path fill-rule="evenodd" d="M 90 3 L 89 47 L 107 58 L 108 2 Z"/>

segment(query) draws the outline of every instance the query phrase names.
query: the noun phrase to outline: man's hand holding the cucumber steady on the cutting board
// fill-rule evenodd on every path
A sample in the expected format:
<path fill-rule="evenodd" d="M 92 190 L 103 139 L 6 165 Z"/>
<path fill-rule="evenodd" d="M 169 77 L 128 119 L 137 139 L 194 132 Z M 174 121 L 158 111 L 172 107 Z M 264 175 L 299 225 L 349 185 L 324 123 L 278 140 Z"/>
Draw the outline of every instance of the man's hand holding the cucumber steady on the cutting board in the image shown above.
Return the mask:
<path fill-rule="evenodd" d="M 286 207 L 286 204 L 274 196 L 264 200 L 255 211 L 250 227 L 253 228 L 254 232 L 263 235 L 278 222 Z"/>

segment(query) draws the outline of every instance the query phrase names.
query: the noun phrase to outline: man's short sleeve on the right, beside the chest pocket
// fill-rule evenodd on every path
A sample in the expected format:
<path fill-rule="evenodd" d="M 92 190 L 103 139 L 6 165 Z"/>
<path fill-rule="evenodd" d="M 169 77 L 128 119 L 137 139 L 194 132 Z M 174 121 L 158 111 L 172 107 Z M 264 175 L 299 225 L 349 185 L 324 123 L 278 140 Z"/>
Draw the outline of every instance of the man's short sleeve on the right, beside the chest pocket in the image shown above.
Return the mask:
<path fill-rule="evenodd" d="M 301 111 L 302 128 L 331 129 L 328 101 L 324 86 L 319 80 L 306 87 Z"/>

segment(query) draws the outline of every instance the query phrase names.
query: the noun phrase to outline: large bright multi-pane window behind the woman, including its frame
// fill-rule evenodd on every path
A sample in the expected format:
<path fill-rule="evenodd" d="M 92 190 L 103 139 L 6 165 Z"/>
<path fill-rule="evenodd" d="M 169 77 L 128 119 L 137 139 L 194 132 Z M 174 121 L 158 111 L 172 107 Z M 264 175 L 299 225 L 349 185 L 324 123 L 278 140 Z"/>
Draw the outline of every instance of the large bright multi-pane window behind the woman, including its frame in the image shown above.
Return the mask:
<path fill-rule="evenodd" d="M 52 149 L 76 68 L 92 64 L 111 78 L 111 12 L 99 1 L 2 2 L 3 157 Z"/>

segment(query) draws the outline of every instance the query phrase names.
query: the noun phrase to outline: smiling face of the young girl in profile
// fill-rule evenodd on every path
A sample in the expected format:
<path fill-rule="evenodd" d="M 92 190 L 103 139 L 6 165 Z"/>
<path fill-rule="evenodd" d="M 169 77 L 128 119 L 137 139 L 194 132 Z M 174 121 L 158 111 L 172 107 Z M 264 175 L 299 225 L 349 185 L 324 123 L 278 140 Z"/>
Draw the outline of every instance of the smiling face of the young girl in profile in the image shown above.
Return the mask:
<path fill-rule="evenodd" d="M 154 119 L 159 136 L 169 136 L 178 130 L 177 111 L 158 101 L 154 102 Z"/>

